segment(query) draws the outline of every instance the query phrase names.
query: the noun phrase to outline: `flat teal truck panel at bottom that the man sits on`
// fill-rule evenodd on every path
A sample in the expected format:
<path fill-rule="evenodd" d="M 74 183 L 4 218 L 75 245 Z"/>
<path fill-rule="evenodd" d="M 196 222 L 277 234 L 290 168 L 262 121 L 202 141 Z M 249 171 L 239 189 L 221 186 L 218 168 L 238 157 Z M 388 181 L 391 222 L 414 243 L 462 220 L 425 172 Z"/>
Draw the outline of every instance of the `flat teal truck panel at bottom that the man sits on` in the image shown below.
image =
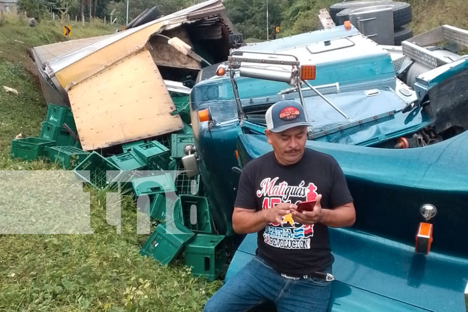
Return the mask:
<path fill-rule="evenodd" d="M 329 233 L 336 278 L 329 311 L 465 311 L 467 259 L 416 254 L 412 246 L 364 232 L 330 228 Z M 247 264 L 256 247 L 256 234 L 247 235 L 226 280 Z"/>

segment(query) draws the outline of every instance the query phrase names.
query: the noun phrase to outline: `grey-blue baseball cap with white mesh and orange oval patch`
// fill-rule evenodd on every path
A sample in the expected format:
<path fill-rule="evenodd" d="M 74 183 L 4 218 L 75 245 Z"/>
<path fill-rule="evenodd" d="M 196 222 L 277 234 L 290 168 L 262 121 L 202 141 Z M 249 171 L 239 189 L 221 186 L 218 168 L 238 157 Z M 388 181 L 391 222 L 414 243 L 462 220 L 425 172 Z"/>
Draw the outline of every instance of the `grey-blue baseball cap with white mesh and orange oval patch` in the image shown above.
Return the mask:
<path fill-rule="evenodd" d="M 266 127 L 273 132 L 281 132 L 292 127 L 310 126 L 302 105 L 293 100 L 279 101 L 266 111 Z"/>

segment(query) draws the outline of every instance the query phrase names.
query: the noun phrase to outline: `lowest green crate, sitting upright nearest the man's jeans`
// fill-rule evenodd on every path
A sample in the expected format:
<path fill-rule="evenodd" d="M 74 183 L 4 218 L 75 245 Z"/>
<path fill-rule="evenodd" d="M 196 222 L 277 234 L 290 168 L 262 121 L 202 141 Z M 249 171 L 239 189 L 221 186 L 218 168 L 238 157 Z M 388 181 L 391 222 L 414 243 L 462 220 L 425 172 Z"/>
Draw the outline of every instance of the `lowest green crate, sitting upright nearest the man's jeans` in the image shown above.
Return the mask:
<path fill-rule="evenodd" d="M 194 276 L 214 281 L 226 263 L 226 243 L 222 235 L 197 234 L 184 248 L 185 265 Z"/>

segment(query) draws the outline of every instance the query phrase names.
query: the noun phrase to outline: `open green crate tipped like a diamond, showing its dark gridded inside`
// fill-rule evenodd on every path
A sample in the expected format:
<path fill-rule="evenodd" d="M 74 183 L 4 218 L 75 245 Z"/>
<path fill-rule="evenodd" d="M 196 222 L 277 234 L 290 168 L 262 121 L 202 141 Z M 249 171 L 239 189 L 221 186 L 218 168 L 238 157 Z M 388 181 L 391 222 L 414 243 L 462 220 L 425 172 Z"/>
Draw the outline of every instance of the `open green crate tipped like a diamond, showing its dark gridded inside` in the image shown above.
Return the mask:
<path fill-rule="evenodd" d="M 89 170 L 89 179 L 84 173 L 80 173 L 80 171 L 86 170 Z M 118 173 L 111 174 L 107 171 L 118 171 Z M 109 184 L 117 180 L 118 176 L 122 174 L 123 171 L 110 160 L 102 157 L 98 152 L 92 152 L 73 169 L 73 172 L 95 188 L 105 189 Z"/>

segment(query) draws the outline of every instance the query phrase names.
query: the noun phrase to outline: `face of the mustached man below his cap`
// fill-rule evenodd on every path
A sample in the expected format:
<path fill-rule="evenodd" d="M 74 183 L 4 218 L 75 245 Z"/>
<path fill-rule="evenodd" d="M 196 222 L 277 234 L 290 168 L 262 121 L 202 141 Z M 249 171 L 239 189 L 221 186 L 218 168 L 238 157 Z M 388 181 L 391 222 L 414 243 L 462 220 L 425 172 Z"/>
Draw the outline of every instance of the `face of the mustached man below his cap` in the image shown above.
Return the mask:
<path fill-rule="evenodd" d="M 265 135 L 280 164 L 292 165 L 302 158 L 307 141 L 307 126 L 298 126 L 278 133 L 265 130 Z"/>

